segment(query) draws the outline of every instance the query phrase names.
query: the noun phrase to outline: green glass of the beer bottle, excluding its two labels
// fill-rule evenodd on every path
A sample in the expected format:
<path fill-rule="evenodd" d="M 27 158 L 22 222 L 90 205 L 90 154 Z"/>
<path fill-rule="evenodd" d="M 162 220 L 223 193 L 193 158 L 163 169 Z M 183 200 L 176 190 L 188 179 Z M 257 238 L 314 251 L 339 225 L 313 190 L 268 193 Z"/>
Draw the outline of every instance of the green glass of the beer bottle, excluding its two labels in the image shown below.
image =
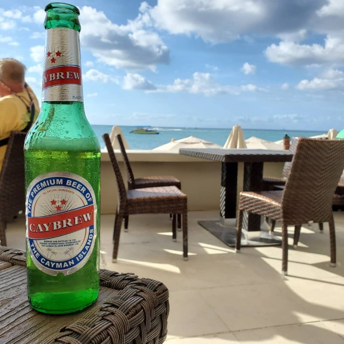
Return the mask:
<path fill-rule="evenodd" d="M 78 8 L 62 3 L 46 6 L 46 29 L 80 31 Z M 79 42 L 75 42 L 79 44 Z M 27 289 L 31 306 L 40 312 L 77 312 L 97 300 L 99 294 L 100 237 L 100 145 L 84 111 L 82 101 L 43 101 L 41 113 L 24 146 L 25 185 L 48 172 L 70 172 L 91 185 L 97 204 L 93 251 L 79 270 L 56 276 L 36 267 L 27 244 Z M 28 243 L 28 240 L 27 240 Z"/>

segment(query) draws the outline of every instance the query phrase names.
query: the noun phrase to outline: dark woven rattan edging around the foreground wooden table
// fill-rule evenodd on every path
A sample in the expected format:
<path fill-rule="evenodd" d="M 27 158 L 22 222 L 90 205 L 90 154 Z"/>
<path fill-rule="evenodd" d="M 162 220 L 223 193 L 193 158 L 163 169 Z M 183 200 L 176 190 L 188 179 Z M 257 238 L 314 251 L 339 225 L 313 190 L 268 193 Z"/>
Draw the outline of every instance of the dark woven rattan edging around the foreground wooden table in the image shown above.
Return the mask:
<path fill-rule="evenodd" d="M 26 254 L 0 246 L 0 260 L 23 266 Z M 25 265 L 24 265 L 25 266 Z M 119 293 L 41 344 L 157 344 L 167 335 L 168 289 L 155 280 L 100 270 L 101 286 Z"/>

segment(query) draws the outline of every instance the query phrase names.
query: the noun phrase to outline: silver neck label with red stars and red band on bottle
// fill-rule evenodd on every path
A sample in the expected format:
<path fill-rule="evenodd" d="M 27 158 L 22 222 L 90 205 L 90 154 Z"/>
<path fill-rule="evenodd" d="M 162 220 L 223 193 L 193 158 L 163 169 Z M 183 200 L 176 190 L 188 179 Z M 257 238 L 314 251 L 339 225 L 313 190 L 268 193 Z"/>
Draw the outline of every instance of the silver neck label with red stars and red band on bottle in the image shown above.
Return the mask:
<path fill-rule="evenodd" d="M 46 31 L 42 101 L 83 101 L 79 32 Z"/>

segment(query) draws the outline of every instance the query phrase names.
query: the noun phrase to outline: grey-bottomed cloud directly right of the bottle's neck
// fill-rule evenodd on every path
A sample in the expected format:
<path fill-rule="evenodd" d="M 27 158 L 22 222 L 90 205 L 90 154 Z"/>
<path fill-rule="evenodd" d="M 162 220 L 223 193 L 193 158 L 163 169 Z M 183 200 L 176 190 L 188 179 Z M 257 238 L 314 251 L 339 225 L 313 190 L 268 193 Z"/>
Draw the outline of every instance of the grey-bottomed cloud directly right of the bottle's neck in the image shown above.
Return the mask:
<path fill-rule="evenodd" d="M 100 62 L 117 68 L 152 70 L 157 64 L 169 62 L 168 48 L 151 30 L 148 14 L 141 13 L 136 20 L 117 25 L 103 12 L 84 6 L 80 22 L 81 44 Z"/>

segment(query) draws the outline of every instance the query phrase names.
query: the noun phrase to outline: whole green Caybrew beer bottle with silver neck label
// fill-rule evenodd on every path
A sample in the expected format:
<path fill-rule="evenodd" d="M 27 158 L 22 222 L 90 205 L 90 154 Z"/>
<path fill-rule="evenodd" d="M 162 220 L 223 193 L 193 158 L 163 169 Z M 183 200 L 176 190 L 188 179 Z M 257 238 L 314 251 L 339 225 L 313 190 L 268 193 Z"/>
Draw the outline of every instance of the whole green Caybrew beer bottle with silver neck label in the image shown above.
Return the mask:
<path fill-rule="evenodd" d="M 24 145 L 27 288 L 40 312 L 77 312 L 99 293 L 100 146 L 85 116 L 79 9 L 46 11 L 41 113 Z"/>

